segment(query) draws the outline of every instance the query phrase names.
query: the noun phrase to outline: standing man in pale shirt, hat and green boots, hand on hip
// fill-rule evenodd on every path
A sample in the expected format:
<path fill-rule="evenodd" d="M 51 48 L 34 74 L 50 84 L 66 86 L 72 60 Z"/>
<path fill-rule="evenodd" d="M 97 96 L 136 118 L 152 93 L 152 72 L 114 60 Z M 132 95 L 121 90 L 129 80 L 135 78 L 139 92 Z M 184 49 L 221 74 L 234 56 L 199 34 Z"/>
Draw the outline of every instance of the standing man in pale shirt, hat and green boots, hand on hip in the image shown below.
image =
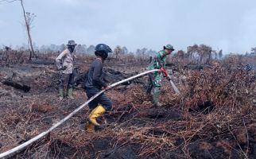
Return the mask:
<path fill-rule="evenodd" d="M 76 42 L 73 40 L 68 41 L 68 48 L 66 48 L 63 52 L 60 53 L 56 58 L 56 65 L 58 70 L 61 71 L 61 79 L 60 79 L 60 100 L 64 98 L 64 87 L 68 91 L 68 98 L 74 99 L 73 93 L 73 85 L 74 85 L 74 74 L 73 74 L 73 60 L 74 49 L 76 47 Z"/>

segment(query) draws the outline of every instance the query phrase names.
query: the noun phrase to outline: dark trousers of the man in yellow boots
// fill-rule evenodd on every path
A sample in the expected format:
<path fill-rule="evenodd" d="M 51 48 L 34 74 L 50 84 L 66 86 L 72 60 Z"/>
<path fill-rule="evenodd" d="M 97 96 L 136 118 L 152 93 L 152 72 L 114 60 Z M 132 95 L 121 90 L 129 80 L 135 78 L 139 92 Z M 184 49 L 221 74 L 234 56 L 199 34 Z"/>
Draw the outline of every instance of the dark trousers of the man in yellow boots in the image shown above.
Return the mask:
<path fill-rule="evenodd" d="M 87 87 L 85 89 L 87 98 L 90 99 L 93 95 L 96 95 L 100 90 L 98 88 L 91 88 L 91 87 Z M 93 99 L 89 104 L 89 108 L 92 111 L 93 109 L 95 109 L 95 107 L 98 106 L 98 104 L 103 105 L 103 107 L 106 109 L 106 111 L 111 111 L 111 107 L 112 107 L 112 103 L 111 100 L 107 97 L 107 95 L 105 95 L 104 93 L 102 93 L 101 95 L 99 95 L 97 98 Z"/>

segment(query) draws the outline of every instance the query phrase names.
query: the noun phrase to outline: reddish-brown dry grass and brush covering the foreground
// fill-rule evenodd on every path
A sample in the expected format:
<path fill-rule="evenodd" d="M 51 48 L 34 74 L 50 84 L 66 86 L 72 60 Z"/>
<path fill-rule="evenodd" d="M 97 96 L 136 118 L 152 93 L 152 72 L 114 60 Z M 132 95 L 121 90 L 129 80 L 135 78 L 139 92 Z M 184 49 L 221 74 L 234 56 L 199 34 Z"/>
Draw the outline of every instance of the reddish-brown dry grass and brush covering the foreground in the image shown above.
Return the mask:
<path fill-rule="evenodd" d="M 223 147 L 226 157 L 231 157 L 231 151 L 235 150 L 247 158 L 252 151 L 250 142 L 256 142 L 249 139 L 249 135 L 250 138 L 256 135 L 255 77 L 242 68 L 228 66 L 216 63 L 201 71 L 183 70 L 180 76 L 185 76 L 184 80 L 175 79 L 181 95 L 175 95 L 169 82 L 164 80 L 165 87 L 161 89 L 164 107 L 154 108 L 140 85 L 108 91 L 113 109 L 103 116 L 104 130 L 95 134 L 83 130 L 86 109 L 17 157 L 60 157 L 63 153 L 68 155 L 65 149 L 69 149 L 72 152 L 69 157 L 100 158 L 120 147 L 134 145 L 139 148 L 136 149 L 139 158 L 165 158 L 176 152 L 181 158 L 190 158 L 191 144 L 202 141 L 200 149 Z M 80 67 L 87 69 L 88 63 L 80 63 Z M 83 91 L 76 91 L 75 97 L 76 101 L 60 102 L 52 90 L 16 99 L 1 97 L 4 102 L 1 103 L 0 151 L 48 129 L 86 99 Z M 107 149 L 96 147 L 95 141 L 100 139 L 109 141 Z"/>

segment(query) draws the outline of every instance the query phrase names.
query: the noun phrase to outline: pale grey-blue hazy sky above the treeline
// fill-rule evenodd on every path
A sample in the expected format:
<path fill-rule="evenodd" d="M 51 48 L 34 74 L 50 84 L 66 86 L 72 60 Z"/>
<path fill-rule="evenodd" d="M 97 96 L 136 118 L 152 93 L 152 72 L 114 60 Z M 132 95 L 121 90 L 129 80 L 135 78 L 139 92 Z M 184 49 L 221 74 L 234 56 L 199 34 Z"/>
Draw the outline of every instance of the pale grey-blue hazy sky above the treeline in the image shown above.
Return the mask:
<path fill-rule="evenodd" d="M 24 0 L 37 45 L 106 43 L 160 50 L 205 44 L 223 52 L 256 46 L 255 0 Z M 0 45 L 26 43 L 20 2 L 0 2 Z"/>

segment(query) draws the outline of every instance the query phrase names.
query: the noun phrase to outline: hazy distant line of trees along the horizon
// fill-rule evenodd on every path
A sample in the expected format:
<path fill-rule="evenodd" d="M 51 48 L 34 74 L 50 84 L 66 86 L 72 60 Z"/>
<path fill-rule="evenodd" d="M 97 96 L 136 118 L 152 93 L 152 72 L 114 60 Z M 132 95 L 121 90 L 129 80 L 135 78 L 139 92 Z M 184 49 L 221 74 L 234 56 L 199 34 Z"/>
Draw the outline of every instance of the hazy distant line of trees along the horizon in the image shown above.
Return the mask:
<path fill-rule="evenodd" d="M 37 52 L 62 52 L 66 45 L 41 45 L 40 47 L 37 45 L 33 45 L 35 51 Z M 27 51 L 29 50 L 28 45 L 22 45 L 22 46 L 5 46 L 2 45 L 1 50 L 17 50 L 17 51 Z M 161 48 L 159 48 L 161 50 Z M 157 51 L 159 51 L 157 50 Z M 85 53 L 85 54 L 91 54 L 93 55 L 95 52 L 95 45 L 76 45 L 75 48 L 76 53 Z M 137 56 L 153 56 L 156 51 L 149 49 L 149 48 L 138 48 L 135 52 L 130 52 L 126 46 L 120 46 L 117 45 L 115 48 L 113 48 L 113 56 L 118 58 L 120 55 L 137 55 Z M 215 50 L 211 48 L 209 45 L 191 45 L 187 47 L 187 50 L 176 50 L 173 52 L 173 56 L 179 56 L 181 58 L 189 58 L 189 59 L 197 59 L 200 60 L 201 63 L 203 60 L 209 60 L 209 59 L 221 59 L 223 55 L 229 55 L 229 54 L 239 54 L 234 52 L 223 52 L 222 49 Z M 251 48 L 251 52 L 242 52 L 245 56 L 255 56 L 256 55 L 256 47 Z"/>

